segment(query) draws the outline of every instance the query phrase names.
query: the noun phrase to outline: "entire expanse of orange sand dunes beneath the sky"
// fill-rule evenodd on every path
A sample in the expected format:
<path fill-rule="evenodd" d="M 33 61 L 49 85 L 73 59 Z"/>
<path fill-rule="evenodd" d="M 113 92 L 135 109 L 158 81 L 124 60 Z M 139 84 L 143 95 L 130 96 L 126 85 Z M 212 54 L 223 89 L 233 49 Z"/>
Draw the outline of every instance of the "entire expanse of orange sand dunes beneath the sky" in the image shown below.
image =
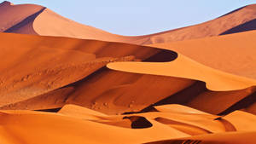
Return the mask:
<path fill-rule="evenodd" d="M 126 37 L 0 4 L 0 143 L 253 144 L 256 5 Z"/>

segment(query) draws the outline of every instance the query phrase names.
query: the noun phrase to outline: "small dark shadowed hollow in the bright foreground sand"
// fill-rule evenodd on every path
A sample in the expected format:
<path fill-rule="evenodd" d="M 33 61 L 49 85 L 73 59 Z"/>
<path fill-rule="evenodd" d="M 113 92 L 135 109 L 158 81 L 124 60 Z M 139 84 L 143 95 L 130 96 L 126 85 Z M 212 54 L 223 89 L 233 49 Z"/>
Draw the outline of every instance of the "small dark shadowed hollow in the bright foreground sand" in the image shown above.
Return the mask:
<path fill-rule="evenodd" d="M 132 129 L 144 129 L 150 128 L 153 126 L 147 118 L 140 117 L 140 116 L 131 116 L 131 117 L 124 117 L 123 119 L 129 119 L 131 121 L 131 128 Z"/>

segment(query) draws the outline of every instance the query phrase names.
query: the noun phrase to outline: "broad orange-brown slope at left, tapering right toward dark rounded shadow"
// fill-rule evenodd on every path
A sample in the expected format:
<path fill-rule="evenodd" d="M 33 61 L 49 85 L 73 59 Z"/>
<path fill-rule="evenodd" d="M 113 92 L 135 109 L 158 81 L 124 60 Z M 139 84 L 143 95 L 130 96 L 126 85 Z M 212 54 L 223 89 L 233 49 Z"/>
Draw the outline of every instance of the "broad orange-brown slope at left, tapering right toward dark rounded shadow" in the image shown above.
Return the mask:
<path fill-rule="evenodd" d="M 77 82 L 110 61 L 142 60 L 161 51 L 124 43 L 61 37 L 9 33 L 1 33 L 0 37 L 1 106 Z"/>

